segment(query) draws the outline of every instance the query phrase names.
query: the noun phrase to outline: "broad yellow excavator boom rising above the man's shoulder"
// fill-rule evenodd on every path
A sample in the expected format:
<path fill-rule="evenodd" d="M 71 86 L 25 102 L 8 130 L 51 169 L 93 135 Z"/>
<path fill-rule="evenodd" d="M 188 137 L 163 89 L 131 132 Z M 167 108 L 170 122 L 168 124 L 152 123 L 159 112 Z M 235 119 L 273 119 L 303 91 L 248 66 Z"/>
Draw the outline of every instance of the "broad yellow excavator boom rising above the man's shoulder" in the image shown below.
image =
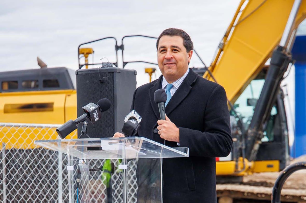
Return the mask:
<path fill-rule="evenodd" d="M 284 32 L 293 0 L 242 0 L 209 70 L 234 103 L 271 57 Z M 302 1 L 294 29 L 306 17 Z M 203 77 L 214 81 L 211 74 Z"/>

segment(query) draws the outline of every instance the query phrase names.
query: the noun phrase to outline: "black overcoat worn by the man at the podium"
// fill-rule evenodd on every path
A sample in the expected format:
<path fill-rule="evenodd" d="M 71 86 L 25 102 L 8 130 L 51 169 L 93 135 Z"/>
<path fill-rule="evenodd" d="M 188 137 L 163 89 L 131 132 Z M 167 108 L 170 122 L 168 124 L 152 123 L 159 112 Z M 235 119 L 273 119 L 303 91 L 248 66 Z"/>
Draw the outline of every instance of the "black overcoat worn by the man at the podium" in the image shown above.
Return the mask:
<path fill-rule="evenodd" d="M 154 102 L 154 92 L 161 88 L 161 81 L 162 76 L 138 87 L 131 109 L 142 117 L 138 135 L 164 144 L 156 129 L 160 115 Z M 188 147 L 189 157 L 163 159 L 163 202 L 215 203 L 215 157 L 229 155 L 233 144 L 224 88 L 189 69 L 165 111 L 179 128 L 179 147 Z M 166 145 L 178 147 L 176 142 L 166 141 Z M 138 173 L 143 170 L 146 169 Z M 141 189 L 148 190 L 143 186 Z"/>

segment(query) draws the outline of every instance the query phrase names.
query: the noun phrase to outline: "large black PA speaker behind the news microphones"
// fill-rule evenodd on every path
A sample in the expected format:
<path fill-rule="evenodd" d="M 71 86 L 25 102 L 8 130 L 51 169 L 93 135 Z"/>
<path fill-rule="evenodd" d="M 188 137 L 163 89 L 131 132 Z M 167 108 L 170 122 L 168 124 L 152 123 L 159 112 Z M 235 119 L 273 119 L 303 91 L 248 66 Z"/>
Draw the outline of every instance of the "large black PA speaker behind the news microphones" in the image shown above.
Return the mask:
<path fill-rule="evenodd" d="M 124 118 L 129 114 L 133 93 L 136 89 L 136 70 L 117 67 L 76 70 L 77 116 L 84 114 L 83 106 L 97 103 L 102 98 L 110 100 L 111 106 L 102 112 L 101 119 L 91 123 L 88 119 L 87 134 L 91 138 L 113 137 L 121 132 Z M 78 137 L 82 123 L 78 125 Z M 88 138 L 82 136 L 81 138 Z"/>

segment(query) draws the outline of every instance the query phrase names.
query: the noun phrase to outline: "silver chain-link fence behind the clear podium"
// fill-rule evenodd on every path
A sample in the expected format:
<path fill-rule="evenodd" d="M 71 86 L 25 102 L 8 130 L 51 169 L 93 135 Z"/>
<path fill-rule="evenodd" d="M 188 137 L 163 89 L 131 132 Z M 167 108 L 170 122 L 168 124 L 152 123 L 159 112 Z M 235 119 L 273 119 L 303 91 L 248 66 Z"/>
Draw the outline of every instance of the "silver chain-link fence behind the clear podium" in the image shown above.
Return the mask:
<path fill-rule="evenodd" d="M 55 131 L 60 125 L 0 123 L 0 202 L 69 202 L 67 155 L 39 147 L 35 140 L 58 139 Z M 77 131 L 66 139 L 77 138 Z M 76 160 L 77 161 L 77 160 Z M 118 160 L 111 160 L 118 166 Z M 89 168 L 101 168 L 104 160 L 89 160 Z M 137 160 L 128 162 L 128 199 L 137 201 Z M 76 177 L 77 163 L 73 177 Z M 123 202 L 122 175 L 112 174 L 112 199 Z M 105 176 L 102 171 L 89 172 L 90 202 L 106 202 Z M 73 199 L 76 199 L 73 186 Z"/>

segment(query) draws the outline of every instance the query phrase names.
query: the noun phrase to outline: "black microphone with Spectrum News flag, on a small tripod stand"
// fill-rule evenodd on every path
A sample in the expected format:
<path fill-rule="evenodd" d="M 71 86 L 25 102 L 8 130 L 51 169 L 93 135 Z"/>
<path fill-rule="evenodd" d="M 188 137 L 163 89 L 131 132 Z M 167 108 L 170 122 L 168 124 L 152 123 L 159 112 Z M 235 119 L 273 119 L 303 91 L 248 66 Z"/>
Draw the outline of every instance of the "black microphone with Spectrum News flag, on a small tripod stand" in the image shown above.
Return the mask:
<path fill-rule="evenodd" d="M 110 100 L 106 98 L 100 99 L 97 104 L 89 103 L 88 105 L 82 107 L 85 112 L 82 116 L 78 117 L 75 120 L 67 121 L 62 126 L 58 127 L 56 129 L 56 132 L 58 133 L 59 137 L 64 139 L 67 135 L 69 135 L 73 130 L 77 128 L 77 124 L 85 121 L 87 118 L 89 118 L 91 123 L 95 123 L 101 118 L 101 112 L 104 112 L 109 109 L 110 105 Z"/>

